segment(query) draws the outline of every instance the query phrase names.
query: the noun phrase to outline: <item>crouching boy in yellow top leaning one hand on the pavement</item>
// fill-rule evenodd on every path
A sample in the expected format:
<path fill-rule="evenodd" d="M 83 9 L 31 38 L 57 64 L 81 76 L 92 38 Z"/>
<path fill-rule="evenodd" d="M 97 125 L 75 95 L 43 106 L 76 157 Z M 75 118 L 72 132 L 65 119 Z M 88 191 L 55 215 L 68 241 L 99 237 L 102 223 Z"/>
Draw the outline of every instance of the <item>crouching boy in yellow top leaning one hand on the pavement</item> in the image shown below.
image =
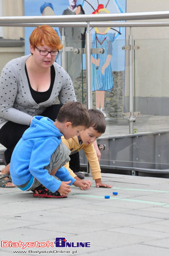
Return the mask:
<path fill-rule="evenodd" d="M 83 148 L 88 159 L 91 174 L 93 180 L 95 180 L 96 187 L 112 187 L 102 183 L 101 168 L 93 146 L 93 142 L 105 132 L 106 120 L 103 113 L 99 110 L 88 110 L 88 114 L 90 118 L 89 128 L 82 130 L 79 133 L 79 136 L 74 136 L 71 139 L 66 140 L 64 137 L 62 137 L 62 142 L 71 151 L 70 155 L 75 154 Z M 73 170 L 70 169 L 69 162 L 67 162 L 64 167 L 69 171 L 71 176 L 73 176 L 76 180 L 80 180 Z"/>

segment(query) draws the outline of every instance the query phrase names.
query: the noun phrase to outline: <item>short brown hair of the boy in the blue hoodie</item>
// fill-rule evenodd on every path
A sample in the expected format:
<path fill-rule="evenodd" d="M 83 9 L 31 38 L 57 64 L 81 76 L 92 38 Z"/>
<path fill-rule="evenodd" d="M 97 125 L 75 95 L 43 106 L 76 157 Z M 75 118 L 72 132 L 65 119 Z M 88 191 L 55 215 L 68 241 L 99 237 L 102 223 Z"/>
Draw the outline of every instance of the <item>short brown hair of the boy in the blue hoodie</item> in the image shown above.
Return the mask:
<path fill-rule="evenodd" d="M 85 106 L 78 101 L 68 101 L 60 108 L 57 121 L 71 122 L 72 126 L 82 125 L 89 127 L 89 115 Z"/>

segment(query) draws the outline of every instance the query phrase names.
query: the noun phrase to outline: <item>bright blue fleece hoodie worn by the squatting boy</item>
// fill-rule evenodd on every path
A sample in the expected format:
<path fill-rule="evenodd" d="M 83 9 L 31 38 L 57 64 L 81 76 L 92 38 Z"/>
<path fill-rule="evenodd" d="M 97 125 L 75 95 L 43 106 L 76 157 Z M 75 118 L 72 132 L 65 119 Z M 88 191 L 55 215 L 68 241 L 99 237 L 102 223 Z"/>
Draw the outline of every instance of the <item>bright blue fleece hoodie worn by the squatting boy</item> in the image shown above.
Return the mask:
<path fill-rule="evenodd" d="M 58 190 L 61 181 L 74 183 L 65 167 L 56 172 L 56 177 L 50 175 L 45 166 L 49 165 L 51 156 L 61 142 L 62 134 L 47 117 L 34 116 L 30 127 L 23 133 L 16 144 L 11 157 L 10 174 L 15 185 L 27 183 L 32 176 L 52 192 Z"/>

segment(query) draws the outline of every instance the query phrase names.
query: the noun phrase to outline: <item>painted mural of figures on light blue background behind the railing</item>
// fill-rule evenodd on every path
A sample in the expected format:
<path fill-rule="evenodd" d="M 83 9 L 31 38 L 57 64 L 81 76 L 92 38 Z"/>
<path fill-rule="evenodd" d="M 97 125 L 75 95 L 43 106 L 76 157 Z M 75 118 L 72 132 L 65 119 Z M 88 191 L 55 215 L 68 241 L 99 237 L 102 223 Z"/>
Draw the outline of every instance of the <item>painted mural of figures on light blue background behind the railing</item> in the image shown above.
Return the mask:
<path fill-rule="evenodd" d="M 32 3 L 31 3 L 32 2 Z M 126 11 L 126 0 L 25 0 L 25 15 L 78 15 L 106 14 Z M 34 28 L 26 28 L 26 54 L 29 50 L 29 35 Z M 55 28 L 59 36 L 61 28 Z M 104 48 L 104 54 L 93 54 L 92 91 L 93 106 L 100 109 L 105 117 L 118 116 L 123 112 L 125 72 L 125 28 L 91 28 L 92 48 Z M 64 28 L 66 46 L 85 47 L 86 28 Z M 74 82 L 78 100 L 86 100 L 85 54 L 67 52 L 66 71 Z M 60 64 L 60 55 L 56 61 Z M 83 87 L 83 84 L 84 87 Z M 83 92 L 82 92 L 83 87 Z M 118 90 L 117 90 L 118 89 Z"/>

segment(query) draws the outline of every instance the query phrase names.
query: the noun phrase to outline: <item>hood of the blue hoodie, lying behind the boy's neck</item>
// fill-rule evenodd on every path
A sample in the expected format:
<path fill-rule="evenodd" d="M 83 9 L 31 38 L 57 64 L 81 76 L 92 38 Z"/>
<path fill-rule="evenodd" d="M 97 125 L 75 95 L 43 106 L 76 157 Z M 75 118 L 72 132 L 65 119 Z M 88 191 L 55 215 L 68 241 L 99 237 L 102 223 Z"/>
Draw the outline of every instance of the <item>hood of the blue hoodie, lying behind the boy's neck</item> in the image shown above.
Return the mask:
<path fill-rule="evenodd" d="M 33 139 L 41 137 L 60 137 L 62 134 L 48 117 L 34 116 L 30 127 L 23 133 L 22 139 Z"/>

